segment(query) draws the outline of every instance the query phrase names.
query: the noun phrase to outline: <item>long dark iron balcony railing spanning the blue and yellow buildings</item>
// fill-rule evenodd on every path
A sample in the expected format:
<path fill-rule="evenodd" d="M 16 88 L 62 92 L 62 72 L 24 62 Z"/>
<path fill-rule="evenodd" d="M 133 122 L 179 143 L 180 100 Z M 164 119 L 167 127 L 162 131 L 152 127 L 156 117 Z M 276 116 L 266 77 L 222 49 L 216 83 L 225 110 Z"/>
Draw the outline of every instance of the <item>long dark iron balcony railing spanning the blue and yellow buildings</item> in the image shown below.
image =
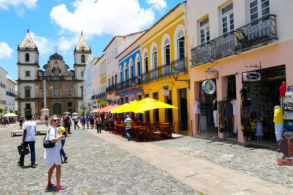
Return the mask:
<path fill-rule="evenodd" d="M 120 83 L 111 85 L 106 88 L 106 93 L 111 93 L 114 91 L 122 91 L 126 90 L 128 88 L 131 88 L 131 84 L 134 82 L 136 85 L 145 84 L 148 82 L 152 82 L 155 80 L 158 80 L 160 78 L 167 78 L 170 77 L 172 74 L 172 70 L 177 67 L 177 69 L 185 73 L 187 72 L 187 58 L 181 58 L 172 61 L 171 63 L 164 64 L 162 66 L 159 66 L 158 68 L 154 68 L 146 73 L 143 73 L 139 76 L 129 78 L 125 81 L 122 81 Z"/>

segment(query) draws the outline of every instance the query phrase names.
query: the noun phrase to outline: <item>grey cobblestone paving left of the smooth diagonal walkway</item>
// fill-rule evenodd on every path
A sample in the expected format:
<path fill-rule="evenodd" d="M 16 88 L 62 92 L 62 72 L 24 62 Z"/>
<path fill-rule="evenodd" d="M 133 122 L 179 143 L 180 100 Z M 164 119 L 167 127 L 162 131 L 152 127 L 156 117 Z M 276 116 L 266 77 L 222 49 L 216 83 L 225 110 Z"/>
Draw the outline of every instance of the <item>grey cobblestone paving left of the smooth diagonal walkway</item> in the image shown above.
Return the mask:
<path fill-rule="evenodd" d="M 30 155 L 24 167 L 17 165 L 20 136 L 10 132 L 19 126 L 0 130 L 0 194 L 4 195 L 197 195 L 186 184 L 130 153 L 85 130 L 72 130 L 64 146 L 68 163 L 62 165 L 61 185 L 45 188 L 48 169 L 44 167 L 42 139 L 36 137 L 36 164 L 30 168 Z M 47 128 L 39 125 L 38 128 Z M 106 132 L 104 132 L 106 133 Z M 55 172 L 52 182 L 56 183 Z"/>

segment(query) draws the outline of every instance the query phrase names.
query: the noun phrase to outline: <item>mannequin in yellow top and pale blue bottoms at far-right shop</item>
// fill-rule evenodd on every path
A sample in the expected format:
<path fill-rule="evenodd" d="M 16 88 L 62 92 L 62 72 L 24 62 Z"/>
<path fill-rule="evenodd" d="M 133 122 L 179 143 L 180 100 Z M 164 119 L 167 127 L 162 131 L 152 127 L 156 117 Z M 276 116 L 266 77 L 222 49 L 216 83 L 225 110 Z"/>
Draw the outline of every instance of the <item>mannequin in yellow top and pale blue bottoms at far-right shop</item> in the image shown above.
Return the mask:
<path fill-rule="evenodd" d="M 279 145 L 279 148 L 276 149 L 277 152 L 280 152 L 280 140 L 283 138 L 283 132 L 284 132 L 284 118 L 283 118 L 283 110 L 281 109 L 281 106 L 275 106 L 273 108 L 273 122 L 275 123 L 275 134 L 276 134 L 276 140 Z"/>

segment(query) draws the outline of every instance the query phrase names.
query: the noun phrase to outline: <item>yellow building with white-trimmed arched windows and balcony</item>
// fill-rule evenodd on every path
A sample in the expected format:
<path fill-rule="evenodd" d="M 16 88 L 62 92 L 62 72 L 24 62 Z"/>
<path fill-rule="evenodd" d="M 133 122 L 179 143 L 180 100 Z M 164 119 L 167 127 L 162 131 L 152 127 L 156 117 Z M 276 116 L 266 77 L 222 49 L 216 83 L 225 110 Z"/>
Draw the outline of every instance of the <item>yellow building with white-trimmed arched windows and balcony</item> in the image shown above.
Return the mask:
<path fill-rule="evenodd" d="M 175 122 L 176 131 L 191 133 L 189 124 L 188 82 L 175 81 L 171 71 L 177 68 L 180 80 L 188 80 L 186 2 L 178 4 L 141 37 L 142 69 L 153 81 L 143 85 L 145 97 L 179 107 L 149 111 L 150 121 Z M 169 89 L 168 96 L 163 90 Z"/>

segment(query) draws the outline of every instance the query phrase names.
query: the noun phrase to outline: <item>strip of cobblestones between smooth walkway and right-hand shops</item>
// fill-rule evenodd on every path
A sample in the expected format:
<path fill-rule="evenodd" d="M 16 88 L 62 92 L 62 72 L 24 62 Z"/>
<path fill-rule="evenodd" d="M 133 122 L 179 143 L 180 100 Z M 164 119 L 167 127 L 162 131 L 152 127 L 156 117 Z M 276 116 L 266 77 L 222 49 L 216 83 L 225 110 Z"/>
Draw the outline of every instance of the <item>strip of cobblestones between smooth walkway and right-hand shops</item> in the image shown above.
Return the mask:
<path fill-rule="evenodd" d="M 277 158 L 283 154 L 275 152 L 272 148 L 248 146 L 208 136 L 181 137 L 151 143 L 293 188 L 293 167 L 277 165 Z"/>

